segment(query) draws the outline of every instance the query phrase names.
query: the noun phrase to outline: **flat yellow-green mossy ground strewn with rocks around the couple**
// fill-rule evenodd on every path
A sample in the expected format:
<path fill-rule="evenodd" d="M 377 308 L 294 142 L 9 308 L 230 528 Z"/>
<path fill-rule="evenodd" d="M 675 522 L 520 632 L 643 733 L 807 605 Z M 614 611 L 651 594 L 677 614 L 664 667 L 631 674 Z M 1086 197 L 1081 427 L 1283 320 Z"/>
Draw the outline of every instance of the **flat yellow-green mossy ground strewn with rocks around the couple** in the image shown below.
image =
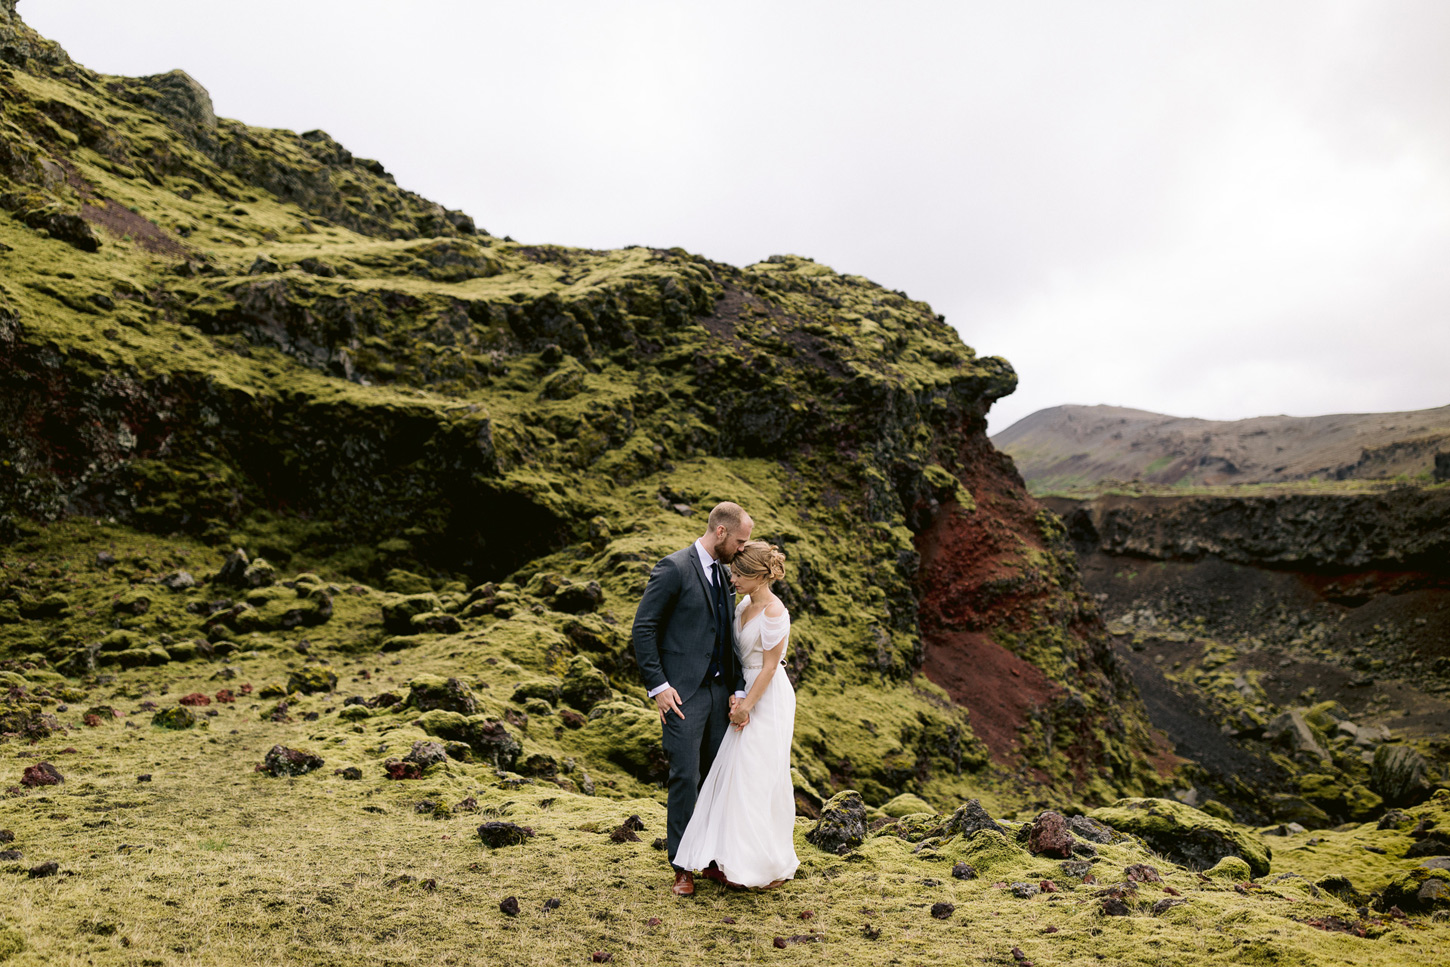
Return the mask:
<path fill-rule="evenodd" d="M 78 528 L 68 545 L 77 557 L 52 558 L 51 581 L 80 571 L 74 561 L 104 547 L 87 544 L 80 525 L 70 526 Z M 125 536 L 120 529 L 109 534 L 113 541 Z M 160 538 L 130 539 L 116 567 L 132 561 L 135 568 L 136 555 L 149 555 L 160 570 L 173 565 L 164 554 L 187 549 Z M 12 576 L 39 573 L 26 571 L 38 561 L 10 557 L 6 564 Z M 204 571 L 196 570 L 199 577 Z M 109 625 L 104 597 L 87 590 L 84 573 L 71 576 L 75 621 L 84 623 L 86 612 L 94 612 L 97 631 Z M 1134 841 L 1101 847 L 1096 883 L 1083 883 L 1058 861 L 990 834 L 924 852 L 884 835 L 838 857 L 805 839 L 812 823 L 802 818 L 795 881 L 770 893 L 731 893 L 702 880 L 693 900 L 676 899 L 664 855 L 651 845 L 664 834 L 661 793 L 608 761 L 581 757 L 558 783 L 455 760 L 432 765 L 422 780 L 386 779 L 386 760 L 431 736 L 412 709 L 347 721 L 339 716 L 345 696 L 406 694 L 418 674 L 457 674 L 476 683 L 490 713 L 503 716 L 515 674 L 487 635 L 435 635 L 403 652 L 376 651 L 376 639 L 357 632 L 389 599 L 373 589 L 339 593 L 338 612 L 322 629 L 248 638 L 248 647 L 225 661 L 110 667 L 83 680 L 7 661 L 9 671 L 0 673 L 6 684 L 39 696 L 65 731 L 33 744 L 0 744 L 0 787 L 9 787 L 0 828 L 14 834 L 0 848 L 20 852 L 0 861 L 0 960 L 88 967 L 555 964 L 590 963 L 599 951 L 612 963 L 650 966 L 1404 964 L 1433 961 L 1450 939 L 1443 913 L 1396 919 L 1356 909 L 1418 866 L 1399 858 L 1411 842 L 1404 829 L 1373 823 L 1270 838 L 1273 870 L 1259 883 L 1204 877 Z M 41 621 L 12 623 L 0 626 L 0 636 L 17 644 L 29 634 L 41 644 L 44 628 Z M 302 636 L 313 642 L 306 655 L 296 649 Z M 316 660 L 338 674 L 336 689 L 289 696 L 289 721 L 274 721 L 280 683 Z M 535 674 L 522 665 L 518 673 Z M 493 687 L 484 687 L 490 678 Z M 249 694 L 244 684 L 252 686 Z M 164 710 L 181 696 L 215 696 L 220 689 L 236 693 L 236 702 L 196 706 L 194 728 L 152 723 L 148 703 Z M 812 700 L 802 693 L 803 721 Z M 112 705 L 122 716 L 83 725 L 84 712 L 97 705 Z M 568 745 L 558 735 L 577 734 L 555 729 L 554 719 L 535 709 L 528 728 L 518 729 L 525 752 L 552 750 L 563 758 Z M 313 751 L 325 764 L 294 779 L 255 771 L 277 744 Z M 65 781 L 22 787 L 22 771 L 39 761 L 52 763 Z M 573 781 L 586 765 L 593 796 Z M 347 767 L 357 767 L 361 779 L 342 777 Z M 992 789 L 985 792 L 989 808 L 1002 808 Z M 1438 796 L 1411 812 L 1450 823 L 1450 796 Z M 639 841 L 615 842 L 612 831 L 631 815 L 642 821 Z M 535 835 L 492 850 L 476 832 L 487 821 L 525 825 Z M 46 861 L 57 863 L 54 876 L 29 876 Z M 980 877 L 953 879 L 958 861 L 972 863 Z M 1153 864 L 1164 883 L 1137 886 L 1127 897 L 1130 915 L 1106 916 L 1103 890 L 1122 883 L 1134 863 Z M 1312 887 L 1331 874 L 1347 876 L 1363 896 L 1347 903 Z M 1009 889 L 1043 880 L 1058 892 L 1019 899 Z M 1156 915 L 1153 906 L 1172 896 L 1169 887 L 1186 902 Z M 518 899 L 518 916 L 500 912 L 509 896 Z M 557 909 L 545 909 L 551 899 L 560 900 Z M 954 909 L 938 919 L 931 913 L 937 903 Z M 777 947 L 776 938 L 786 945 Z"/>

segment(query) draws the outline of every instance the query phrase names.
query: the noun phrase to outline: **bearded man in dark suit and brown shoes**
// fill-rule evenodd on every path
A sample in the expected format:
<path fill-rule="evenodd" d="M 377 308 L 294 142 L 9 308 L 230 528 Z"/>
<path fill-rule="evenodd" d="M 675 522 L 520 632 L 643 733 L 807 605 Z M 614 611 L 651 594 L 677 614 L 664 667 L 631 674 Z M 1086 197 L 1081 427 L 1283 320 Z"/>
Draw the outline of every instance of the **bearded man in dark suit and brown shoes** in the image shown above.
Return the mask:
<path fill-rule="evenodd" d="M 753 526 L 740 505 L 715 505 L 705 536 L 654 565 L 635 612 L 635 661 L 660 709 L 670 760 L 670 866 L 731 709 L 745 697 L 735 660 L 735 592 L 725 565 L 745 547 Z M 693 895 L 695 874 L 674 867 L 671 890 Z"/>

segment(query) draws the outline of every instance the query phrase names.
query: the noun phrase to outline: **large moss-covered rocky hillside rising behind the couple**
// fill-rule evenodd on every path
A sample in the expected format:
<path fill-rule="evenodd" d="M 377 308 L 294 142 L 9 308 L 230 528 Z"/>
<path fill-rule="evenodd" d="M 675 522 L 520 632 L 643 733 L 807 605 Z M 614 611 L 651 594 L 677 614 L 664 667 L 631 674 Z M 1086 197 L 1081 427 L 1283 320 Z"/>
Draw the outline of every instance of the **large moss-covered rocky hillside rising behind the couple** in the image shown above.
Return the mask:
<path fill-rule="evenodd" d="M 912 535 L 944 500 L 973 513 L 957 441 L 1015 377 L 929 306 L 799 257 L 741 270 L 457 219 L 422 238 L 415 200 L 371 165 L 320 135 L 213 129 L 187 78 L 28 61 L 4 81 L 28 145 L 6 177 L 78 206 L 100 242 L 0 228 L 19 267 L 0 333 L 12 531 L 84 512 L 339 587 L 406 570 L 513 596 L 374 642 L 403 651 L 455 618 L 477 634 L 552 610 L 519 590 L 539 573 L 597 577 L 606 616 L 539 618 L 625 693 L 650 563 L 737 499 L 792 555 L 792 674 L 819 696 L 802 712 L 809 780 L 950 797 L 985 761 L 961 710 L 915 678 Z M 371 193 L 355 217 L 326 213 L 345 178 Z M 61 648 L 100 631 L 41 634 L 74 638 Z M 1140 790 L 1102 794 L 1118 792 Z"/>

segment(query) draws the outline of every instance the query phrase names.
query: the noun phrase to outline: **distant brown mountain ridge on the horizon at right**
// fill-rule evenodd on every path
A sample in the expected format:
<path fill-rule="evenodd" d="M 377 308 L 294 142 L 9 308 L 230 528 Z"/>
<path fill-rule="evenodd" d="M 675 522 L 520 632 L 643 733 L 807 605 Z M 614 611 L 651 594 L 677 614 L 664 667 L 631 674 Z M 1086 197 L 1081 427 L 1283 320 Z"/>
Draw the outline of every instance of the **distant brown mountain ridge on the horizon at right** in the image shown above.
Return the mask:
<path fill-rule="evenodd" d="M 1228 484 L 1434 474 L 1450 406 L 1402 413 L 1206 420 L 1122 406 L 1053 406 L 992 438 L 1034 490 L 1106 480 Z"/>

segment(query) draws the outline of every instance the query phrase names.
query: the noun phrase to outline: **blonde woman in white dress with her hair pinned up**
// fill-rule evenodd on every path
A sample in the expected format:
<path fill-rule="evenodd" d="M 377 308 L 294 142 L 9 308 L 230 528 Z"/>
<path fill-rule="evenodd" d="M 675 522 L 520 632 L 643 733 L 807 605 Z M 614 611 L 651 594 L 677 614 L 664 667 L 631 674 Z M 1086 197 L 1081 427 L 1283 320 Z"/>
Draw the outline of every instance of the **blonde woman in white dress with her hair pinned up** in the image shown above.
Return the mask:
<path fill-rule="evenodd" d="M 770 590 L 784 573 L 784 554 L 764 541 L 747 542 L 731 563 L 731 583 L 744 594 L 735 606 L 735 654 L 745 697 L 731 710 L 732 728 L 674 855 L 679 868 L 703 868 L 728 886 L 780 886 L 799 866 L 790 784 L 796 693 L 782 668 L 790 615 Z"/>

